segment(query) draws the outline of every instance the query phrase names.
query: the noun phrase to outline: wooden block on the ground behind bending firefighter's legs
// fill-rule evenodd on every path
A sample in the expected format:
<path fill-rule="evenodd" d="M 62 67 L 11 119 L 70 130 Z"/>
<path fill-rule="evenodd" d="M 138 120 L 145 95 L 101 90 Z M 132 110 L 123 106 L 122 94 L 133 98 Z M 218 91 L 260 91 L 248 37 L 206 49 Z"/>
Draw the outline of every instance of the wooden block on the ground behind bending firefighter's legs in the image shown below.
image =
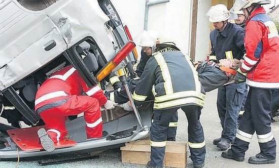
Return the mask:
<path fill-rule="evenodd" d="M 150 139 L 132 141 L 121 147 L 122 162 L 147 164 L 150 160 Z M 167 141 L 164 166 L 185 167 L 187 165 L 187 143 Z"/>

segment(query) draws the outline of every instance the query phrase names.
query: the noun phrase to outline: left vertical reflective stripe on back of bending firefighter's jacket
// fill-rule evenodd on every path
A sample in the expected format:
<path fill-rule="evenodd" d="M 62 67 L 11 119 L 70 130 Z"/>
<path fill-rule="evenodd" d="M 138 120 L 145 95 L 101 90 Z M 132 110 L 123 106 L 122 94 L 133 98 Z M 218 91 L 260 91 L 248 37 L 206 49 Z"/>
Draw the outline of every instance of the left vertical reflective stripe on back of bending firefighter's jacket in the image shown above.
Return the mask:
<path fill-rule="evenodd" d="M 161 53 L 158 53 L 154 56 L 154 58 L 156 59 L 158 65 L 160 66 L 160 70 L 162 71 L 162 76 L 165 81 L 164 88 L 166 95 L 173 93 L 171 77 L 163 55 Z"/>

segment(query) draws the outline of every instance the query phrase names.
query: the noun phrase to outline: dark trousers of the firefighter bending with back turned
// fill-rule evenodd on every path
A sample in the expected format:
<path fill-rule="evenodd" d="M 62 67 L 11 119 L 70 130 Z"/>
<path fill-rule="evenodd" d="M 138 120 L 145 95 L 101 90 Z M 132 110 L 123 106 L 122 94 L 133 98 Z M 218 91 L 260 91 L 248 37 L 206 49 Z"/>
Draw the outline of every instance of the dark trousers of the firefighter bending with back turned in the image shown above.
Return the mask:
<path fill-rule="evenodd" d="M 195 165 L 204 163 L 205 143 L 203 129 L 199 121 L 201 107 L 189 105 L 181 107 L 188 120 L 188 141 L 191 159 Z M 179 108 L 166 110 L 154 110 L 154 121 L 151 127 L 151 162 L 152 165 L 162 166 L 165 155 L 165 143 L 167 139 L 167 128 L 173 114 Z"/>

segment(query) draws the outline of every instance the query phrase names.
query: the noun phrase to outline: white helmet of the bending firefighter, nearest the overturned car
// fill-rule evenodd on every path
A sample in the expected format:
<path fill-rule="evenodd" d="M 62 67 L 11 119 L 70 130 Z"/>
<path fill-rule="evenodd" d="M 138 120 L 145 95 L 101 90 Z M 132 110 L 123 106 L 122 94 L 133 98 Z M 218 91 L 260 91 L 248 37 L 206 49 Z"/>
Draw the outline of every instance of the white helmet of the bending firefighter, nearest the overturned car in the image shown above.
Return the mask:
<path fill-rule="evenodd" d="M 138 46 L 153 47 L 156 43 L 159 43 L 158 33 L 156 31 L 144 30 L 140 34 L 140 44 Z"/>

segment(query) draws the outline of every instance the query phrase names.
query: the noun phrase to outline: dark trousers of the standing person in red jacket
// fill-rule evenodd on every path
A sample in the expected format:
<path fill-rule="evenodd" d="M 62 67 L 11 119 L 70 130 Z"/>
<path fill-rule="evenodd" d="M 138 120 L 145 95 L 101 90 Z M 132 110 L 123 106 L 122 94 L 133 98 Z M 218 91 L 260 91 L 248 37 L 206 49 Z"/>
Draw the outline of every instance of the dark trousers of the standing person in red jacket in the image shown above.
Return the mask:
<path fill-rule="evenodd" d="M 271 90 L 250 87 L 236 138 L 231 146 L 233 152 L 244 157 L 253 134 L 256 132 L 261 154 L 275 159 L 276 141 L 271 132 Z"/>

